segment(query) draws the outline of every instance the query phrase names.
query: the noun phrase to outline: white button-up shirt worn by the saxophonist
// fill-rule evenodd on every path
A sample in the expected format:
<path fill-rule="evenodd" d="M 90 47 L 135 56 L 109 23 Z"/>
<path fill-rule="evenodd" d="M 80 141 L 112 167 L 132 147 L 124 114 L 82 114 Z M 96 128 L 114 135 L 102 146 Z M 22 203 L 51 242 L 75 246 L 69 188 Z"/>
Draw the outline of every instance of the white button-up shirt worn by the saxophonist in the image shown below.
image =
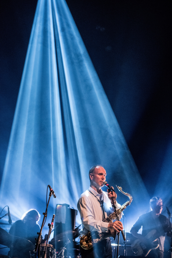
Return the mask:
<path fill-rule="evenodd" d="M 89 190 L 93 193 L 90 193 Z M 108 198 L 107 192 L 101 190 L 101 194 L 96 192 L 92 187 L 89 190 L 82 193 L 78 201 L 78 210 L 81 215 L 83 235 L 86 235 L 88 231 L 108 232 L 108 222 L 103 222 L 103 212 L 101 205 L 97 198 L 101 201 L 104 199 L 104 211 L 105 218 L 114 212 L 111 201 Z M 96 197 L 97 198 L 96 198 Z M 116 208 L 121 207 L 116 201 Z M 122 214 L 119 215 L 121 219 Z"/>

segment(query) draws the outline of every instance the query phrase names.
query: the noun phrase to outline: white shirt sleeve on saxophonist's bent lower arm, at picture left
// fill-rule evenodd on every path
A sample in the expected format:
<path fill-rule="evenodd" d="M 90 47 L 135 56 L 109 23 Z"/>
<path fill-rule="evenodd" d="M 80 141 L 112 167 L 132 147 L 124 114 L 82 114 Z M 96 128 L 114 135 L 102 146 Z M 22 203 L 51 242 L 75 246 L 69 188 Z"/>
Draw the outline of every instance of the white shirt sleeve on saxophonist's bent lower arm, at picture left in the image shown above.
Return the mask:
<path fill-rule="evenodd" d="M 87 197 L 84 196 L 79 199 L 78 210 L 81 214 L 82 223 L 87 230 L 98 231 L 99 233 L 108 231 L 109 223 L 94 219 L 93 209 Z"/>

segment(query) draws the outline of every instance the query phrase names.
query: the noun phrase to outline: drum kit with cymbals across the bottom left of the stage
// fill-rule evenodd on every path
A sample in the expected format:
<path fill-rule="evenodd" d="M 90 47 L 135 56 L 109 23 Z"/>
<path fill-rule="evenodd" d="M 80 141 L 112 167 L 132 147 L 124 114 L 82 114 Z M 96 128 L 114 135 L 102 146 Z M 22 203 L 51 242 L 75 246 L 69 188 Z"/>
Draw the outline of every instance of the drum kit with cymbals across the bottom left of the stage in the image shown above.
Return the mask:
<path fill-rule="evenodd" d="M 81 258 L 79 243 L 75 238 L 79 237 L 79 229 L 68 230 L 56 235 L 47 245 L 45 258 Z M 35 245 L 27 239 L 11 236 L 0 228 L 0 244 L 10 248 L 8 255 L 18 258 L 34 258 Z M 46 244 L 41 244 L 42 257 Z"/>

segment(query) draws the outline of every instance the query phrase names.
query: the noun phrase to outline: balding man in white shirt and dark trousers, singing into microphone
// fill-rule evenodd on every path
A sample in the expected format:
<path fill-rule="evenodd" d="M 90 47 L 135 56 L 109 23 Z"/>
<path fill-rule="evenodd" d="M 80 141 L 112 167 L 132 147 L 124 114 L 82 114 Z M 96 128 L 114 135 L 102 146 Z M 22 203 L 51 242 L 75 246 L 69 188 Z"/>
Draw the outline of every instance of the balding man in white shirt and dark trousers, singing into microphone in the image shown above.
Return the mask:
<path fill-rule="evenodd" d="M 106 180 L 106 170 L 100 166 L 93 166 L 89 171 L 90 187 L 82 193 L 78 201 L 78 210 L 81 215 L 83 235 L 88 231 L 97 231 L 98 233 L 108 232 L 109 230 L 123 230 L 121 221 L 113 223 L 103 222 L 104 218 L 114 212 L 112 207 L 112 197 L 115 203 L 115 193 L 104 192 L 101 188 Z M 117 196 L 116 196 L 117 197 Z M 103 205 L 102 205 L 103 203 Z M 116 208 L 120 205 L 116 201 Z M 121 219 L 122 214 L 119 216 Z M 110 238 L 104 239 L 94 245 L 93 248 L 85 250 L 82 247 L 82 258 L 111 258 L 112 248 Z"/>

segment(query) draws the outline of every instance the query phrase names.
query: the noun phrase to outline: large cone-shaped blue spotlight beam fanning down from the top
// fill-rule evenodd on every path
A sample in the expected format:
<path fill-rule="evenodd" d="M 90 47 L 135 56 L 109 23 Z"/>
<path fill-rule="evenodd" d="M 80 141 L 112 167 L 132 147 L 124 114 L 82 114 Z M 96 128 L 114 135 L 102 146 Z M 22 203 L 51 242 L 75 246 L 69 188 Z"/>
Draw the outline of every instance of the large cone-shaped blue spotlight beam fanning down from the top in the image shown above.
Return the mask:
<path fill-rule="evenodd" d="M 29 208 L 39 210 L 50 184 L 58 203 L 76 208 L 94 164 L 102 164 L 108 179 L 115 178 L 132 194 L 135 219 L 143 213 L 140 203 L 144 210 L 149 196 L 67 4 L 39 0 L 6 156 L 1 205 L 10 200 L 15 218 Z"/>

